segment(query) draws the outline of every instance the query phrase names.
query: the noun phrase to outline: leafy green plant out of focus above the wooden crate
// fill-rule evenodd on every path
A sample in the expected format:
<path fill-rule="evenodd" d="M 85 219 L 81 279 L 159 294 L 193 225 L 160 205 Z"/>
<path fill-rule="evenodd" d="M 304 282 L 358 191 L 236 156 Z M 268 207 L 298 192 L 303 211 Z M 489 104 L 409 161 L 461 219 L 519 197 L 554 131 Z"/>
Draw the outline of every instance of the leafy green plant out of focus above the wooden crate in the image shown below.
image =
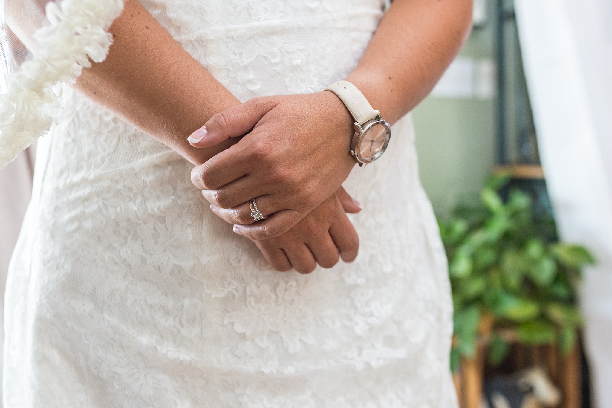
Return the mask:
<path fill-rule="evenodd" d="M 504 202 L 499 190 L 508 182 L 508 176 L 491 177 L 479 199 L 462 202 L 439 220 L 455 308 L 453 371 L 461 357 L 475 357 L 483 323 L 495 365 L 509 352 L 509 337 L 557 343 L 567 354 L 582 322 L 575 285 L 581 267 L 594 262 L 591 254 L 559 243 L 553 221 L 534 218 L 523 191 L 510 191 Z"/>

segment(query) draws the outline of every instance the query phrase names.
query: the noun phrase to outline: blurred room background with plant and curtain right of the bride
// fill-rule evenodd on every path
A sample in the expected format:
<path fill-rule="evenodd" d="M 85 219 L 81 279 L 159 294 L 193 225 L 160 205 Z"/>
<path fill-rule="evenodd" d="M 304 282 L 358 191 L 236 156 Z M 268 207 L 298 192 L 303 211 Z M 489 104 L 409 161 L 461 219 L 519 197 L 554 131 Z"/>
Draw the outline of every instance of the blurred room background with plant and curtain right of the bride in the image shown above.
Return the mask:
<path fill-rule="evenodd" d="M 612 407 L 612 2 L 475 0 L 413 111 L 463 408 Z"/>

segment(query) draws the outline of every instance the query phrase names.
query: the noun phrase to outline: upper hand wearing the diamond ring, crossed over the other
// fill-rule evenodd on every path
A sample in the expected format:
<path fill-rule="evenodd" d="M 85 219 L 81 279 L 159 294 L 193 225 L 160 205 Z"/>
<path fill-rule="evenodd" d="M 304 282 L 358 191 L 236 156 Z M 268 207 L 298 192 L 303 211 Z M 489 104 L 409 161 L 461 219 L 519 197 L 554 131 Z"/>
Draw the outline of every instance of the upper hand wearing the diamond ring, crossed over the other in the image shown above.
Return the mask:
<path fill-rule="evenodd" d="M 356 163 L 349 154 L 353 122 L 332 92 L 253 98 L 215 114 L 190 136 L 192 146 L 211 147 L 248 133 L 196 166 L 193 184 L 220 209 L 248 207 L 255 198 L 258 209 L 271 216 L 241 226 L 242 235 L 280 236 L 348 177 Z"/>

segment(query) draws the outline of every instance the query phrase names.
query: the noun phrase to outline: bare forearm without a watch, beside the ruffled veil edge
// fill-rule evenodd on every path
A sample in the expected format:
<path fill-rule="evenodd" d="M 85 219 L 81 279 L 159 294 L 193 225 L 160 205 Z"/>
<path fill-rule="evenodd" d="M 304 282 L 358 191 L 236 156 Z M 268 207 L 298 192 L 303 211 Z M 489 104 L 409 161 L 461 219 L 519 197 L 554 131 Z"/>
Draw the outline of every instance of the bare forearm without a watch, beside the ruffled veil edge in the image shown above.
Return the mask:
<path fill-rule="evenodd" d="M 236 143 L 209 149 L 187 143 L 187 136 L 213 114 L 240 102 L 138 1 L 125 3 L 110 32 L 108 57 L 84 69 L 76 89 L 194 164 Z"/>

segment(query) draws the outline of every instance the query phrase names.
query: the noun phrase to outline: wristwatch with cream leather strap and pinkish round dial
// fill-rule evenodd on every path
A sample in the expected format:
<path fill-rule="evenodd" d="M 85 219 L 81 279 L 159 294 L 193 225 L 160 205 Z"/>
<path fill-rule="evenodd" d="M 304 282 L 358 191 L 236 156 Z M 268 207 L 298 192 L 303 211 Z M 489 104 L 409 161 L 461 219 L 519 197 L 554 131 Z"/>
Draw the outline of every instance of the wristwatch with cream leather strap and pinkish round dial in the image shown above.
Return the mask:
<path fill-rule="evenodd" d="M 367 165 L 381 157 L 391 138 L 391 127 L 381 114 L 372 108 L 364 94 L 349 81 L 338 81 L 325 88 L 334 92 L 355 119 L 355 134 L 350 154 L 359 166 Z"/>

